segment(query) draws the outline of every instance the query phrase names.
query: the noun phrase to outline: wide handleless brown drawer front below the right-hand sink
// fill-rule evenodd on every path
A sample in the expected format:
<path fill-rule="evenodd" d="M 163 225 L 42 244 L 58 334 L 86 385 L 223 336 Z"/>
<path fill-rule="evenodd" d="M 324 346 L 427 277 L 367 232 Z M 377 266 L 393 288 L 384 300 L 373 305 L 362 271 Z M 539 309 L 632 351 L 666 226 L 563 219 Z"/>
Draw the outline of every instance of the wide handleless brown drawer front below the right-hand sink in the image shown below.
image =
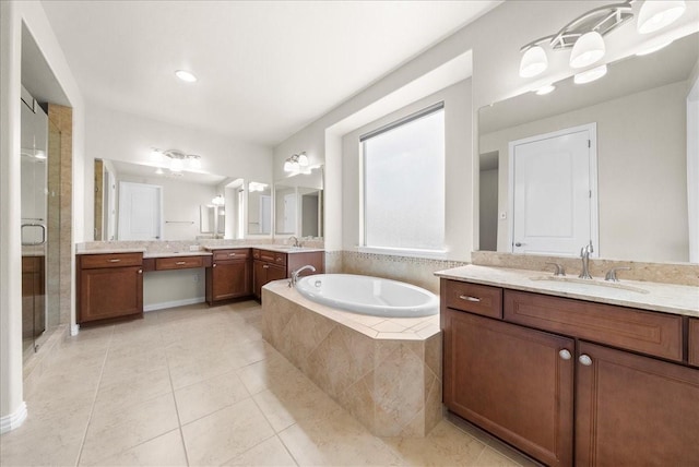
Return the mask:
<path fill-rule="evenodd" d="M 682 316 L 513 290 L 505 320 L 682 361 Z"/>

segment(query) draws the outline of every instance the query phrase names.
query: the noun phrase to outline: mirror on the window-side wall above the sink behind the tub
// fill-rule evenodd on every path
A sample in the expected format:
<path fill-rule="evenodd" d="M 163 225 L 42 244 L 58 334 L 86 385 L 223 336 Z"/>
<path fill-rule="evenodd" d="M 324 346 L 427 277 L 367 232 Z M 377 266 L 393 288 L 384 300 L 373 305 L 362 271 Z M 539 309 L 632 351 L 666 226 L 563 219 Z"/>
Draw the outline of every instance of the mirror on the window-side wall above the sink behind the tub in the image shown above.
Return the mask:
<path fill-rule="evenodd" d="M 323 170 L 310 169 L 274 183 L 274 234 L 323 236 Z"/>

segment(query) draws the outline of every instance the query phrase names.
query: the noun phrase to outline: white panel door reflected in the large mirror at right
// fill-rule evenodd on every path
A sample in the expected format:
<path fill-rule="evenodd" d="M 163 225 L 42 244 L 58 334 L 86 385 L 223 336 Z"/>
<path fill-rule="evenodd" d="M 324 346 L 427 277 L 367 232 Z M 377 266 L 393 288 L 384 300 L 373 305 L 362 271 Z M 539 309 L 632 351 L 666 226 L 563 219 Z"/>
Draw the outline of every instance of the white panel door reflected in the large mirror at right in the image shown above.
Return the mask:
<path fill-rule="evenodd" d="M 597 250 L 593 133 L 584 127 L 510 143 L 512 252 L 576 256 L 591 241 Z"/>

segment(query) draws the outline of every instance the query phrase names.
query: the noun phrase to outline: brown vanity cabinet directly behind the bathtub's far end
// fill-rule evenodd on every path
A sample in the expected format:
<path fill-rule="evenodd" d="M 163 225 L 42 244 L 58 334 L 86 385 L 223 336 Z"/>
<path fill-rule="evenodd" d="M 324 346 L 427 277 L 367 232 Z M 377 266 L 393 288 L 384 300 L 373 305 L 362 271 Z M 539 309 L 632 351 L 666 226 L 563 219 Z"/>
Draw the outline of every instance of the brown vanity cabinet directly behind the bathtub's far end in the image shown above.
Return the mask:
<path fill-rule="evenodd" d="M 305 271 L 308 274 L 321 274 L 324 272 L 325 260 L 323 251 L 289 251 L 252 249 L 252 283 L 254 297 L 262 298 L 262 287 L 272 280 L 285 279 L 292 276 L 292 272 L 310 264 L 316 273 Z"/>

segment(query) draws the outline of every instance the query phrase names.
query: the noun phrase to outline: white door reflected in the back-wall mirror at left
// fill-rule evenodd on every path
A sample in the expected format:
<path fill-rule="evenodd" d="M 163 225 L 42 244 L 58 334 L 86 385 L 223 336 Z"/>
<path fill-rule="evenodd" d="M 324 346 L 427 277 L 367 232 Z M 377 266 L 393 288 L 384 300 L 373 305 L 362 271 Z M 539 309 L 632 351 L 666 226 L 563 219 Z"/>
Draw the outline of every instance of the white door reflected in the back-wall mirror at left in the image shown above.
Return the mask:
<path fill-rule="evenodd" d="M 161 238 L 162 187 L 119 182 L 119 240 Z"/>

